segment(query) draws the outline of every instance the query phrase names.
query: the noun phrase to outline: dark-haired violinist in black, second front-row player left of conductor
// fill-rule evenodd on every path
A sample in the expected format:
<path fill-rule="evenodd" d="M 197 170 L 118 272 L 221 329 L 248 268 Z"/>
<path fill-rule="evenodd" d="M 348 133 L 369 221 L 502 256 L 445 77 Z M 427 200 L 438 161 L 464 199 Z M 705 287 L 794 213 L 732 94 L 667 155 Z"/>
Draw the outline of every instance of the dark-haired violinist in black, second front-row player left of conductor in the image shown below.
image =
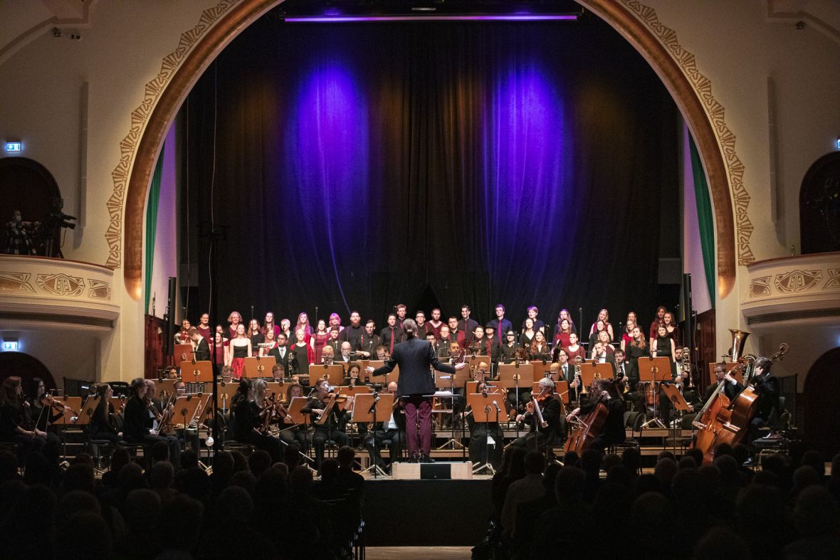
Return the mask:
<path fill-rule="evenodd" d="M 274 414 L 275 403 L 266 398 L 267 385 L 262 379 L 240 379 L 230 402 L 234 411 L 234 437 L 250 443 L 271 456 L 272 463 L 282 459 L 280 440 L 265 433 Z"/>

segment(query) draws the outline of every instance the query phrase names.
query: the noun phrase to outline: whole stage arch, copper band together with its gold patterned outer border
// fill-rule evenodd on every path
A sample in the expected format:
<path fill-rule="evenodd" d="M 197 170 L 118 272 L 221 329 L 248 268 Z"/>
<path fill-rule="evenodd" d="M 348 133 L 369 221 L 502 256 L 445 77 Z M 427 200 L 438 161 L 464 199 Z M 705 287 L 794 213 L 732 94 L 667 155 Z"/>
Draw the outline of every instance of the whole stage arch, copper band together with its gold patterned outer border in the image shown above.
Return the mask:
<path fill-rule="evenodd" d="M 176 50 L 165 56 L 158 75 L 145 85 L 143 102 L 131 113 L 131 127 L 120 143 L 120 160 L 111 174 L 113 193 L 107 202 L 105 238 L 106 265 L 117 269 L 123 264 L 125 287 L 135 300 L 143 290 L 144 206 L 165 134 L 207 66 L 249 24 L 282 2 L 220 0 L 202 12 L 198 23 L 181 34 Z M 735 284 L 736 249 L 738 264 L 755 260 L 749 245 L 753 226 L 747 215 L 749 195 L 743 186 L 743 165 L 735 153 L 735 136 L 724 122 L 723 107 L 711 95 L 711 82 L 697 71 L 694 55 L 680 46 L 674 30 L 659 22 L 654 8 L 637 0 L 577 2 L 604 19 L 648 60 L 680 107 L 714 202 L 717 281 L 720 296 L 727 296 Z"/>

